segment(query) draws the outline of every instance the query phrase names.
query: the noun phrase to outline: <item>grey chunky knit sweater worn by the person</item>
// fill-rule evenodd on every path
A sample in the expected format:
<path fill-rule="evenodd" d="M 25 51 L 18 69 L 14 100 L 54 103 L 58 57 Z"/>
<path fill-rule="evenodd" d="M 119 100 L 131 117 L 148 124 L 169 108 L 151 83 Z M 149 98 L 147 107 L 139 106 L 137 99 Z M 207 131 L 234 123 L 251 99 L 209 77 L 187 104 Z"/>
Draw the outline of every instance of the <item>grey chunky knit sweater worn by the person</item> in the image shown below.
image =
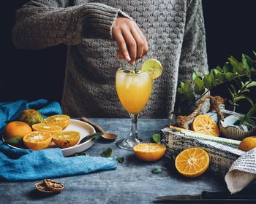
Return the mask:
<path fill-rule="evenodd" d="M 143 60 L 156 58 L 164 68 L 141 116 L 170 117 L 178 81 L 189 80 L 193 70 L 208 72 L 200 0 L 29 1 L 17 11 L 12 38 L 21 49 L 67 44 L 64 113 L 128 117 L 115 87 L 116 70 L 127 66 L 116 58 L 111 35 L 118 15 L 132 17 L 146 35 L 149 51 Z"/>

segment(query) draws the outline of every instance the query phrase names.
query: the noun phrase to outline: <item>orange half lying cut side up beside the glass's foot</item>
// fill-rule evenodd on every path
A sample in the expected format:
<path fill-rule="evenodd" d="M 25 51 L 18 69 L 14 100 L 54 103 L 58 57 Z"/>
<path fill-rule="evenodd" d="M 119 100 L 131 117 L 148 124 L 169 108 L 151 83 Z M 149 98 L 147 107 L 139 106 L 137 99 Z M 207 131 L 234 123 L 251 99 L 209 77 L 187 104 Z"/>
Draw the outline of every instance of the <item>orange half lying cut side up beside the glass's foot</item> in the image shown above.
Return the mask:
<path fill-rule="evenodd" d="M 147 162 L 159 160 L 165 154 L 165 150 L 165 146 L 154 143 L 138 144 L 133 148 L 136 157 Z"/>

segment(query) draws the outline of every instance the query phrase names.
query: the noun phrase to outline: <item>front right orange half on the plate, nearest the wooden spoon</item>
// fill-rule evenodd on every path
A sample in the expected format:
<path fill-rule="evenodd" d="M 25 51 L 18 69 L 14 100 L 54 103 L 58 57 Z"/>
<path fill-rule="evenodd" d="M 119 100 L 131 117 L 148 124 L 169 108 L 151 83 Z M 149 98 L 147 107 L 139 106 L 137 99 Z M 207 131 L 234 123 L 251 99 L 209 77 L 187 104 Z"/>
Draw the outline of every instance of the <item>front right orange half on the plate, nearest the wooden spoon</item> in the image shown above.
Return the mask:
<path fill-rule="evenodd" d="M 76 131 L 63 131 L 53 135 L 54 143 L 60 148 L 75 146 L 80 139 L 80 133 Z"/>

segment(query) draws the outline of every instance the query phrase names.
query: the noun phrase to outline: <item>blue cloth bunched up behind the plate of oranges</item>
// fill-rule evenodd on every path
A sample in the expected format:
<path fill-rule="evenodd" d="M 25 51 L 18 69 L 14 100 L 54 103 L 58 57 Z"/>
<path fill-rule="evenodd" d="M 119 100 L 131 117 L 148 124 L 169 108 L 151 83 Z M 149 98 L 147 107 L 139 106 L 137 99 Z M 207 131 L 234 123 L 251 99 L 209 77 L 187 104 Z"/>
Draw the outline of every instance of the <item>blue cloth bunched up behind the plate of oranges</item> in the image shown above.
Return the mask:
<path fill-rule="evenodd" d="M 0 133 L 4 129 L 7 122 L 17 119 L 21 111 L 26 109 L 38 110 L 44 117 L 53 114 L 61 114 L 61 106 L 58 102 L 49 103 L 45 99 L 37 101 L 18 100 L 15 102 L 1 102 L 0 103 Z"/>

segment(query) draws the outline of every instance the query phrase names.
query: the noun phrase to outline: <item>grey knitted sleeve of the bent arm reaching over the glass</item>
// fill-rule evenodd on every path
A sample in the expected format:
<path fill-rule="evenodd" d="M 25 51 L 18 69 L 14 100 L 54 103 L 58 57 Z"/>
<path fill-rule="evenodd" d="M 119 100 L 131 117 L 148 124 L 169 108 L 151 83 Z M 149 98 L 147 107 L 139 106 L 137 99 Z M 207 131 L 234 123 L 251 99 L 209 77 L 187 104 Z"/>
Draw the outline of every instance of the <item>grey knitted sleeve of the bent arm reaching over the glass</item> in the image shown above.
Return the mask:
<path fill-rule="evenodd" d="M 120 9 L 105 4 L 70 5 L 70 0 L 32 0 L 16 12 L 12 29 L 15 47 L 41 49 L 57 44 L 78 44 L 83 38 L 112 37 Z"/>

